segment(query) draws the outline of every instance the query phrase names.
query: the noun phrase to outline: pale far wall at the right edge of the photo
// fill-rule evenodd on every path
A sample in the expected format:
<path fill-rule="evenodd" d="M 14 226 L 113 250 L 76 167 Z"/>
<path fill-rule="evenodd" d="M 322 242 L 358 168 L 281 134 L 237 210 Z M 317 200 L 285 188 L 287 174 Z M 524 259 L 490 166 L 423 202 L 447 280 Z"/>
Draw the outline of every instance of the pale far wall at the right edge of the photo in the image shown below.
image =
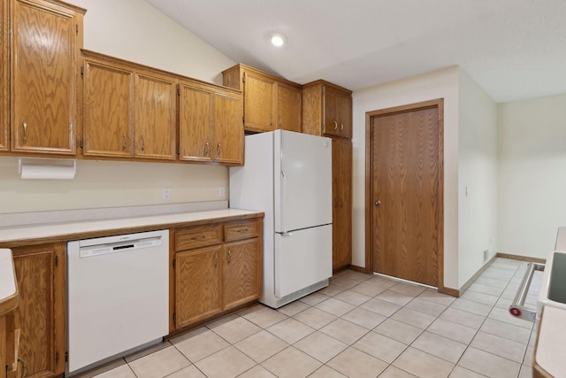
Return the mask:
<path fill-rule="evenodd" d="M 566 94 L 499 106 L 499 251 L 547 258 L 566 226 Z"/>

